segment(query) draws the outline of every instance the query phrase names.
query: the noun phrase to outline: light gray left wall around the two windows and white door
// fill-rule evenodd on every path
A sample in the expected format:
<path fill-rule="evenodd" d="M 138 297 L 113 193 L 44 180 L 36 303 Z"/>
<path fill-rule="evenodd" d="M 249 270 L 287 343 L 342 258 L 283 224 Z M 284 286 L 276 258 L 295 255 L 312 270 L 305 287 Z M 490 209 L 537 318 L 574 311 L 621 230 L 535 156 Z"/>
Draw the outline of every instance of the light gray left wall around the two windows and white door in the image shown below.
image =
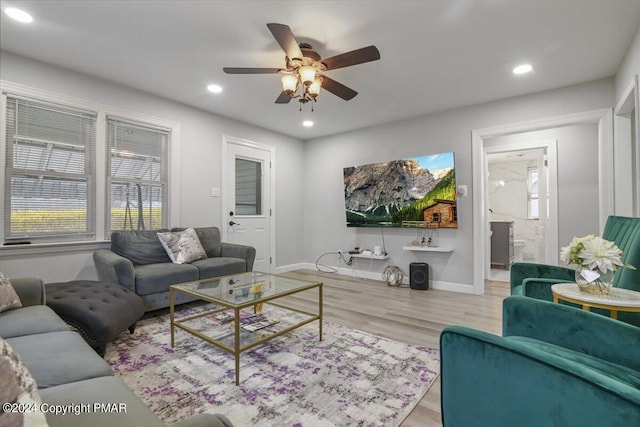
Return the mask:
<path fill-rule="evenodd" d="M 171 226 L 221 226 L 222 136 L 231 135 L 275 147 L 277 211 L 275 254 L 278 265 L 302 261 L 303 142 L 295 138 L 210 114 L 91 76 L 0 52 L 0 78 L 92 103 L 126 109 L 180 124 L 181 200 L 179 223 Z M 14 251 L 15 253 L 15 251 Z M 9 276 L 39 276 L 46 282 L 96 278 L 91 251 L 8 256 L 0 252 L 0 271 Z"/>

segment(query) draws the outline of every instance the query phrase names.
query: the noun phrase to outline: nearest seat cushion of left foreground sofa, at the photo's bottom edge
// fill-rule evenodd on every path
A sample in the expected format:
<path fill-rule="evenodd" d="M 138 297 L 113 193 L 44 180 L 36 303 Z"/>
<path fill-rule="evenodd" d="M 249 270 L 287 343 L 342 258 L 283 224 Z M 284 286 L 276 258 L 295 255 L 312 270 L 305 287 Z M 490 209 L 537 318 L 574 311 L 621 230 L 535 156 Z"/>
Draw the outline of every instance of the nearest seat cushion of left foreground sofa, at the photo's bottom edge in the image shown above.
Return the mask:
<path fill-rule="evenodd" d="M 49 387 L 40 391 L 44 403 L 49 405 L 89 405 L 91 411 L 76 414 L 47 413 L 50 427 L 164 427 L 165 424 L 116 377 L 101 377 L 72 384 Z M 94 403 L 112 403 L 120 411 L 93 410 Z M 123 404 L 123 406 L 118 406 Z M 123 409 L 126 409 L 123 410 Z"/>

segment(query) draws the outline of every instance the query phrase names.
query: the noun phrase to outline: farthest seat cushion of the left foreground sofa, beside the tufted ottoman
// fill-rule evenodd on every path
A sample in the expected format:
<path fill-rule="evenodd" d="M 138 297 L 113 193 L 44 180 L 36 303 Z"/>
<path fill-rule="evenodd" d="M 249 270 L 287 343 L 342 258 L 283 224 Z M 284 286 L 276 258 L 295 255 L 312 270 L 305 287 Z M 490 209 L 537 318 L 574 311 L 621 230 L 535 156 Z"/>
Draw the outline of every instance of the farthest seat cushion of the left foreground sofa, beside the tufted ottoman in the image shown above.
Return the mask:
<path fill-rule="evenodd" d="M 0 313 L 0 337 L 2 338 L 68 330 L 69 325 L 44 305 L 33 305 Z"/>

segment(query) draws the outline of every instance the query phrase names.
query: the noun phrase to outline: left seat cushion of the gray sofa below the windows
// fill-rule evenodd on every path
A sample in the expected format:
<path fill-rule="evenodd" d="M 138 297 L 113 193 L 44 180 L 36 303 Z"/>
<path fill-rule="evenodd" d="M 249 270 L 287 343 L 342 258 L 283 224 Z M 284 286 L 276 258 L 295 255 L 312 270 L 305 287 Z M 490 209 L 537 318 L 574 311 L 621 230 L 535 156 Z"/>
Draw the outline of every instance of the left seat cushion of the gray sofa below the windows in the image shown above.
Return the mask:
<path fill-rule="evenodd" d="M 171 261 L 162 264 L 138 265 L 134 270 L 138 295 L 167 292 L 170 285 L 198 280 L 199 277 L 198 269 L 192 264 L 173 264 Z"/>

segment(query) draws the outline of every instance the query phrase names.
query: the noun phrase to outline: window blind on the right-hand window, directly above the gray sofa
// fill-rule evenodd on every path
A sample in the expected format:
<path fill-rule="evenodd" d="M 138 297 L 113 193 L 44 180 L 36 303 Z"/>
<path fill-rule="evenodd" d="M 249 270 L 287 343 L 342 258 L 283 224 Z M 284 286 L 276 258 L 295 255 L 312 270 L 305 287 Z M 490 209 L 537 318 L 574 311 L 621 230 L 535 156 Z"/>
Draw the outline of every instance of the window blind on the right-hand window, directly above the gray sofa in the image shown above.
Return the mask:
<path fill-rule="evenodd" d="M 167 226 L 171 132 L 107 117 L 107 235 Z"/>

